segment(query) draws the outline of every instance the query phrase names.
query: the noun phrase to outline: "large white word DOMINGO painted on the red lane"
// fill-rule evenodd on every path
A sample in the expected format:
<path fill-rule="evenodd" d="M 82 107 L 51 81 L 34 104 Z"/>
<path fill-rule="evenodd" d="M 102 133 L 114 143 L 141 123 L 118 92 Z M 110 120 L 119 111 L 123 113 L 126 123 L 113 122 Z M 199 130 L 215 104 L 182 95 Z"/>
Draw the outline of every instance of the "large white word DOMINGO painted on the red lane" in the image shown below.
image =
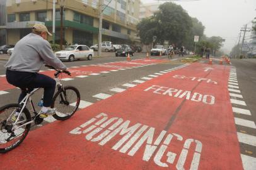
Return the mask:
<path fill-rule="evenodd" d="M 202 143 L 199 140 L 183 139 L 181 135 L 167 133 L 165 130 L 157 136 L 153 127 L 141 125 L 141 123 L 130 125 L 130 123 L 129 120 L 124 121 L 118 117 L 108 118 L 107 114 L 100 113 L 69 133 L 73 135 L 86 134 L 86 140 L 98 142 L 99 145 L 105 145 L 112 140 L 109 143 L 113 144 L 113 150 L 127 153 L 129 156 L 134 156 L 144 144 L 146 147 L 143 148 L 143 161 L 148 162 L 152 159 L 156 165 L 161 167 L 169 167 L 170 164 L 177 162 L 173 164 L 177 169 L 185 169 L 184 165 L 190 166 L 191 170 L 198 169 L 202 152 Z M 120 136 L 122 136 L 121 139 Z M 113 143 L 114 138 L 120 140 Z M 153 141 L 153 139 L 155 140 Z M 180 148 L 177 149 L 177 145 L 180 145 Z M 178 153 L 169 150 L 173 146 Z M 127 152 L 128 150 L 129 152 Z M 187 157 L 189 158 L 187 159 Z"/>

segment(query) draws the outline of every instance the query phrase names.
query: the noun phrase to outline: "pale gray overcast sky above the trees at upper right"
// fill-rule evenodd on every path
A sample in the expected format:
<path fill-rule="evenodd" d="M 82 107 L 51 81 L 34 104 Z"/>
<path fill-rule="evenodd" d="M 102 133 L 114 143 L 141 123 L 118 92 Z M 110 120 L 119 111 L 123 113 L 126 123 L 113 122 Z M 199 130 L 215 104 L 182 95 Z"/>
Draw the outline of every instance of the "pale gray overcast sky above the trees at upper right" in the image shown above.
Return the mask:
<path fill-rule="evenodd" d="M 143 3 L 158 3 L 154 0 L 141 0 Z M 220 36 L 226 39 L 224 47 L 227 50 L 238 43 L 241 27 L 249 24 L 256 17 L 256 0 L 201 0 L 190 2 L 175 2 L 180 4 L 190 16 L 197 18 L 206 27 L 207 37 Z M 247 33 L 246 38 L 250 37 Z"/>

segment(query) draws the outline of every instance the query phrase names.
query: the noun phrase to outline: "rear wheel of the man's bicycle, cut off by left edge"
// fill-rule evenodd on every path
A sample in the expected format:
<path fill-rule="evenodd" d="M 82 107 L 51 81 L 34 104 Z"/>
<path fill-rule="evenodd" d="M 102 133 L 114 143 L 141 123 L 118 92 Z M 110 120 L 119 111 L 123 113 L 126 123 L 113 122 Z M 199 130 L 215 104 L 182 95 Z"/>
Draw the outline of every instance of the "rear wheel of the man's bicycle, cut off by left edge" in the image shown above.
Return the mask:
<path fill-rule="evenodd" d="M 30 130 L 30 124 L 22 126 L 24 123 L 31 121 L 30 113 L 26 108 L 22 111 L 16 125 L 14 125 L 18 118 L 15 113 L 16 111 L 20 112 L 20 110 L 21 106 L 18 104 L 9 104 L 0 108 L 0 153 L 15 149 L 23 142 Z M 13 126 L 17 129 L 11 130 Z"/>

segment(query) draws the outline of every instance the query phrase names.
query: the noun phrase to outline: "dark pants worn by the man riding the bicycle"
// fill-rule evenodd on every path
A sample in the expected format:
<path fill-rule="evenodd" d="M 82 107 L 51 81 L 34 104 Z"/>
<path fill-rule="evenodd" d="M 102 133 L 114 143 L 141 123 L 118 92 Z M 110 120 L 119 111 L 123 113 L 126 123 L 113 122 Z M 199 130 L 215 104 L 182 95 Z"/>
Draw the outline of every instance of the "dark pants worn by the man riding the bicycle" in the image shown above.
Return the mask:
<path fill-rule="evenodd" d="M 6 70 L 6 79 L 9 84 L 13 84 L 21 89 L 18 103 L 26 96 L 25 89 L 32 91 L 34 88 L 44 88 L 44 106 L 49 107 L 52 104 L 52 97 L 54 96 L 56 81 L 44 74 L 37 72 L 20 72 Z"/>

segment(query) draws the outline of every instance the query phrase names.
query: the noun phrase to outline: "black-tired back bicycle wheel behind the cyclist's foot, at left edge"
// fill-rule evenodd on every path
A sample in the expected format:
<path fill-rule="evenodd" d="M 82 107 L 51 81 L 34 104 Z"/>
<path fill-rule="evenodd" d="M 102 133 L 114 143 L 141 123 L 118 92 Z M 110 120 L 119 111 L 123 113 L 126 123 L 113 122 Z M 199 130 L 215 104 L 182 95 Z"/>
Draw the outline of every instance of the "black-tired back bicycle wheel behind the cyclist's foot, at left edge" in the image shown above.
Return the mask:
<path fill-rule="evenodd" d="M 5 139 L 5 141 L 6 141 L 6 143 L 4 143 L 4 137 L 6 136 L 6 138 L 8 137 L 8 135 L 11 135 L 11 133 L 8 133 L 7 132 L 7 128 L 10 128 L 10 126 L 11 126 L 11 123 L 14 123 L 13 121 L 11 121 L 11 120 L 9 120 L 9 122 L 6 122 L 6 120 L 7 120 L 7 118 L 9 118 L 9 116 L 11 116 L 11 115 L 9 115 L 6 119 L 4 119 L 4 111 L 6 111 L 6 110 L 8 110 L 8 109 L 15 109 L 15 108 L 18 108 L 18 109 L 20 109 L 21 110 L 21 105 L 18 105 L 18 104 L 9 104 L 9 105 L 5 105 L 5 106 L 2 106 L 1 108 L 0 108 L 0 137 L 1 137 L 1 139 L 0 139 L 0 153 L 6 153 L 6 152 L 8 152 L 8 151 L 10 151 L 10 150 L 13 150 L 13 149 L 15 149 L 16 147 L 18 147 L 18 145 L 20 145 L 21 144 L 21 142 L 23 142 L 23 140 L 26 138 L 26 135 L 28 135 L 28 132 L 30 131 L 30 124 L 28 124 L 28 125 L 26 125 L 25 126 L 25 128 L 24 128 L 24 131 L 21 133 L 19 130 L 21 130 L 21 128 L 18 128 L 17 130 L 16 130 L 16 133 L 20 133 L 18 136 L 20 136 L 21 134 L 21 138 L 20 139 L 18 139 L 14 144 L 11 144 L 11 145 L 9 145 L 9 146 L 7 146 L 6 144 L 8 143 L 8 142 L 12 142 L 12 140 L 14 140 L 14 139 L 16 139 L 16 137 L 15 138 L 13 138 L 13 139 L 11 139 L 11 140 L 9 140 L 9 141 L 7 141 L 7 139 Z M 14 110 L 15 111 L 15 110 Z M 24 114 L 23 114 L 24 113 Z M 21 113 L 22 114 L 22 116 L 23 116 L 23 118 L 24 118 L 24 116 L 25 116 L 25 122 L 24 122 L 24 120 L 23 120 L 23 122 L 22 123 L 26 123 L 26 122 L 30 122 L 31 121 L 31 116 L 30 116 L 30 112 L 26 109 L 26 108 L 24 108 L 23 109 L 23 112 Z M 3 120 L 2 120 L 3 119 Z M 9 124 L 10 123 L 10 124 Z M 7 125 L 8 124 L 8 125 Z M 20 125 L 21 125 L 21 123 L 20 123 Z M 20 126 L 19 125 L 19 126 Z M 15 133 L 15 132 L 13 132 L 13 133 Z M 6 145 L 6 146 L 5 146 Z"/>

